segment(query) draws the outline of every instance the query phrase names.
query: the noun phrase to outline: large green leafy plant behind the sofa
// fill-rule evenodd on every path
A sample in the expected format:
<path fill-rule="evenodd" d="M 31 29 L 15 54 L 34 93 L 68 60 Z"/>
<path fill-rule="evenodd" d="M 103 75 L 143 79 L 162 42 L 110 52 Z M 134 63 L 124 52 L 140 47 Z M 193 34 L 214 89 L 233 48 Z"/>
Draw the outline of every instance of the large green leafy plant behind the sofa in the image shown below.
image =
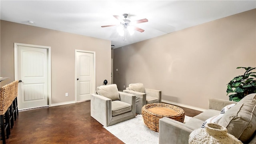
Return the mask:
<path fill-rule="evenodd" d="M 252 67 L 238 67 L 244 68 L 245 72 L 241 76 L 236 76 L 228 83 L 227 95 L 229 95 L 230 101 L 239 102 L 242 98 L 248 94 L 256 93 L 256 72 L 252 72 L 256 68 Z"/>

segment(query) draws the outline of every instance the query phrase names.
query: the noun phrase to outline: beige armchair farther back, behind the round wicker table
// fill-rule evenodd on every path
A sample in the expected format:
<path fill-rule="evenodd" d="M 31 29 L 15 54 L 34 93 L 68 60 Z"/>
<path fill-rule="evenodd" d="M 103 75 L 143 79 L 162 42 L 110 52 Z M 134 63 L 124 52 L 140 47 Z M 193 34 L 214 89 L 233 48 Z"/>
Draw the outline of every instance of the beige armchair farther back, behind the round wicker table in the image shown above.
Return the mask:
<path fill-rule="evenodd" d="M 141 109 L 145 104 L 161 103 L 160 90 L 144 88 L 142 83 L 129 84 L 123 92 L 136 96 L 136 113 L 141 114 Z"/>

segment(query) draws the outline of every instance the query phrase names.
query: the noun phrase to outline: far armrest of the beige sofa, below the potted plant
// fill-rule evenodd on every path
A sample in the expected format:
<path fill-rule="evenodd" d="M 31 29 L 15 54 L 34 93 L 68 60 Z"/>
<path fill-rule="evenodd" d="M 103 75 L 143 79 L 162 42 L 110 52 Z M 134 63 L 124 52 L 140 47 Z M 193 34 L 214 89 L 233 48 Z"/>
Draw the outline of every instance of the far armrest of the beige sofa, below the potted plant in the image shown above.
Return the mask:
<path fill-rule="evenodd" d="M 237 102 L 234 102 L 234 101 L 221 100 L 217 98 L 209 98 L 208 100 L 209 109 L 212 109 L 212 110 L 221 110 L 222 108 L 224 108 L 229 104 L 236 104 L 236 103 Z"/>

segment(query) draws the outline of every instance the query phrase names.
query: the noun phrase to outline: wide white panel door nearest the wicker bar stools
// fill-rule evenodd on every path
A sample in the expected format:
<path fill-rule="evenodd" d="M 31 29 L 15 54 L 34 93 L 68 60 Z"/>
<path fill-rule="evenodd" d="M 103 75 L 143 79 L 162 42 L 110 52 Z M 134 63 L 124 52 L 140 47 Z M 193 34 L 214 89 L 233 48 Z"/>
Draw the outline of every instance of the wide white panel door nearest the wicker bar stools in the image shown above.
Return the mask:
<path fill-rule="evenodd" d="M 47 106 L 48 103 L 48 52 L 46 48 L 17 46 L 18 108 Z"/>

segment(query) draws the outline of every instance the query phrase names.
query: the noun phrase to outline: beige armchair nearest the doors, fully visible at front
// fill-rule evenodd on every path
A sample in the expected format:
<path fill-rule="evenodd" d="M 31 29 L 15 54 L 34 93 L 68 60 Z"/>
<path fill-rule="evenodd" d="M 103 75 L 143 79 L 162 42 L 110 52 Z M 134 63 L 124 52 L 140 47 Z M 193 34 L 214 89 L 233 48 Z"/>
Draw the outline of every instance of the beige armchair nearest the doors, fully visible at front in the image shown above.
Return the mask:
<path fill-rule="evenodd" d="M 136 96 L 118 92 L 116 84 L 98 86 L 91 94 L 91 116 L 103 126 L 135 118 Z"/>

